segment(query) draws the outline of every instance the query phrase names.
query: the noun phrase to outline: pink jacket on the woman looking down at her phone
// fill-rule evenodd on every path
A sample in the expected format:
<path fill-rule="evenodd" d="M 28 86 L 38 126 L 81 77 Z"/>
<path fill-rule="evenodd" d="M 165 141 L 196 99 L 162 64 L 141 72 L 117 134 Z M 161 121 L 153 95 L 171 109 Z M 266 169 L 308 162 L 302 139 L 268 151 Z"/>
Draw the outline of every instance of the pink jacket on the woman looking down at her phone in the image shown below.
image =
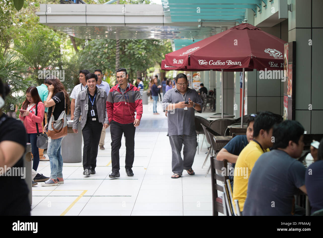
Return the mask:
<path fill-rule="evenodd" d="M 32 112 L 30 112 L 30 111 L 32 111 Z M 19 119 L 24 122 L 26 132 L 28 134 L 37 133 L 36 123 L 38 123 L 39 133 L 43 133 L 43 127 L 42 127 L 41 123 L 43 122 L 44 112 L 45 112 L 44 103 L 42 103 L 42 102 L 38 103 L 37 116 L 35 115 L 36 114 L 36 104 L 32 108 L 29 109 L 29 112 L 30 112 L 29 115 L 26 117 L 21 117 L 21 115 L 19 113 Z"/>

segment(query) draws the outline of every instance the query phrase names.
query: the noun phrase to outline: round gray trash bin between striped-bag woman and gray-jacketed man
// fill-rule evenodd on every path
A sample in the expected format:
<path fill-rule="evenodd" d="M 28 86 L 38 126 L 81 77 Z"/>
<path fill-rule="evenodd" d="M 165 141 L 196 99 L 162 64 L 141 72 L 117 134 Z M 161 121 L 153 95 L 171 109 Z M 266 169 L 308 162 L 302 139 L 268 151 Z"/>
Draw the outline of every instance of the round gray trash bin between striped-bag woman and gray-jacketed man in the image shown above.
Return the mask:
<path fill-rule="evenodd" d="M 73 131 L 73 121 L 67 121 L 68 133 L 62 141 L 62 157 L 64 163 L 82 162 L 82 130 L 78 122 L 78 133 Z"/>

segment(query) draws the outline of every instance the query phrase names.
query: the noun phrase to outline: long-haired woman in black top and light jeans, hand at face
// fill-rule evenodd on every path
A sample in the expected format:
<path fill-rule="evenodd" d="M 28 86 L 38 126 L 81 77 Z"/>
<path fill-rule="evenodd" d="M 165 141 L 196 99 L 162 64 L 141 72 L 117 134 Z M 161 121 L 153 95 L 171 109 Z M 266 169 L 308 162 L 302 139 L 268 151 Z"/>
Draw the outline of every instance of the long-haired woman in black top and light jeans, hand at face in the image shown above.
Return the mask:
<path fill-rule="evenodd" d="M 52 112 L 54 120 L 57 120 L 62 111 L 69 113 L 69 96 L 63 84 L 55 76 L 50 76 L 44 82 L 48 88 L 48 96 L 45 102 L 45 107 L 48 107 L 48 121 L 51 118 Z M 53 106 L 55 106 L 53 111 Z M 41 186 L 57 186 L 63 184 L 63 158 L 61 154 L 61 145 L 64 137 L 48 140 L 47 154 L 50 163 L 50 178 L 41 183 Z"/>

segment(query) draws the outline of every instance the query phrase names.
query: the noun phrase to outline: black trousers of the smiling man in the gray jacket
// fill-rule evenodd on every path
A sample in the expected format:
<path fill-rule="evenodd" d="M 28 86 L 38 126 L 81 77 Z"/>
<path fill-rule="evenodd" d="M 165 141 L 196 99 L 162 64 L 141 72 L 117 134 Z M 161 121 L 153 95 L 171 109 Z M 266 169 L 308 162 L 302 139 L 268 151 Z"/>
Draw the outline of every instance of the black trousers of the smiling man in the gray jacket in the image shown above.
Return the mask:
<path fill-rule="evenodd" d="M 83 169 L 95 169 L 97 166 L 98 147 L 103 125 L 98 120 L 87 122 L 82 130 L 83 134 Z"/>

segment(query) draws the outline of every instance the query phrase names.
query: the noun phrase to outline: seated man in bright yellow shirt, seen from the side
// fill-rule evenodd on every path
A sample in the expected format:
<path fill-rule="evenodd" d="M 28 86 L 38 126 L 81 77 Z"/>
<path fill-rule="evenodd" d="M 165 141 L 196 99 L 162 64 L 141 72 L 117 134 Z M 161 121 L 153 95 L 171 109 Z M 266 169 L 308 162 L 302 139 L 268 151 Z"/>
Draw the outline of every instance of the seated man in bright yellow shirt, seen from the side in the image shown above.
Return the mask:
<path fill-rule="evenodd" d="M 234 167 L 233 199 L 238 199 L 241 212 L 247 197 L 248 179 L 252 168 L 259 156 L 273 146 L 273 126 L 282 120 L 280 115 L 272 112 L 258 114 L 254 123 L 253 141 L 249 142 L 238 156 Z"/>

